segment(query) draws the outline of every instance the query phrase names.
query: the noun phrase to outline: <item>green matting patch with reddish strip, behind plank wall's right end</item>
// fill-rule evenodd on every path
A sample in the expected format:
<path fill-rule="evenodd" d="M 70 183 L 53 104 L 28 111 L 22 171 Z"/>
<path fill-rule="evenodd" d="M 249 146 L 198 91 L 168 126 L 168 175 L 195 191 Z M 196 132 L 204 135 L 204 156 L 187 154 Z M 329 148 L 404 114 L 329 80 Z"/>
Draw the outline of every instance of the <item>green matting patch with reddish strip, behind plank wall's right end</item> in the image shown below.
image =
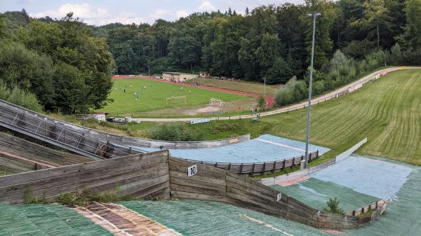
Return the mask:
<path fill-rule="evenodd" d="M 271 187 L 320 210 L 323 207 L 327 207 L 326 202 L 330 198 L 333 199 L 335 197 L 340 201 L 339 207 L 344 211 L 351 211 L 379 200 L 376 197 L 358 193 L 352 190 L 352 188 L 314 178 L 300 181 L 297 184 L 287 187 L 278 185 Z"/>

